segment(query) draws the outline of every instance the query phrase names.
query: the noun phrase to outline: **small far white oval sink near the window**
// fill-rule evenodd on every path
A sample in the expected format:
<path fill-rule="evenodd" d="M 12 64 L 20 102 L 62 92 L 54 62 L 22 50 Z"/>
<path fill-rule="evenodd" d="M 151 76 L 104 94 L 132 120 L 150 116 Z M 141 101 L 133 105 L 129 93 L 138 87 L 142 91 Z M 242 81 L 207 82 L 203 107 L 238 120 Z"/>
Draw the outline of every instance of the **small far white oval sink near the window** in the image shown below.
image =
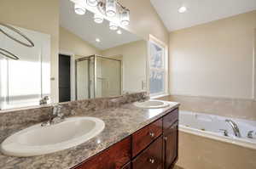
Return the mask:
<path fill-rule="evenodd" d="M 160 100 L 148 100 L 145 102 L 135 102 L 134 105 L 144 109 L 159 109 L 159 108 L 165 108 L 169 106 L 169 104 Z"/>

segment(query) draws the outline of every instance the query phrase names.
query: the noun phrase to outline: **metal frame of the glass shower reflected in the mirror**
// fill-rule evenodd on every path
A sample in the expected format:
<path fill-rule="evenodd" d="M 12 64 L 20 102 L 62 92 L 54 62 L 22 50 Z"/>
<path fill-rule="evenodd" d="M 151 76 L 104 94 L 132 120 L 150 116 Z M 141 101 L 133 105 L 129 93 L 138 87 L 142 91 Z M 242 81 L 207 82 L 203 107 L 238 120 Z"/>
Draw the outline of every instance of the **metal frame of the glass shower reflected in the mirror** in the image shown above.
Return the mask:
<path fill-rule="evenodd" d="M 77 70 L 77 66 L 78 66 L 78 63 L 80 61 L 84 61 L 84 60 L 87 60 L 88 61 L 88 76 L 89 76 L 89 80 L 88 80 L 88 99 L 92 99 L 91 98 L 91 90 L 90 90 L 90 87 L 91 87 L 91 78 L 90 78 L 90 62 L 91 60 L 93 60 L 94 62 L 94 88 L 93 88 L 93 93 L 94 93 L 94 98 L 96 98 L 96 85 L 97 85 L 97 76 L 96 76 L 96 70 L 97 70 L 97 62 L 96 60 L 97 59 L 108 59 L 108 60 L 113 60 L 113 61 L 118 61 L 119 62 L 119 65 L 120 65 L 120 76 L 119 76 L 119 79 L 120 79 L 120 82 L 119 82 L 119 88 L 120 88 L 120 91 L 119 91 L 119 95 L 122 94 L 122 91 L 123 91 L 123 61 L 120 60 L 120 59 L 112 59 L 112 58 L 107 58 L 107 57 L 103 57 L 101 55 L 97 55 L 97 54 L 93 54 L 93 55 L 90 55 L 90 56 L 82 56 L 82 55 L 76 55 L 76 56 L 79 56 L 81 58 L 79 59 L 75 59 L 75 99 L 78 100 L 78 70 Z M 93 59 L 91 59 L 93 58 Z"/>

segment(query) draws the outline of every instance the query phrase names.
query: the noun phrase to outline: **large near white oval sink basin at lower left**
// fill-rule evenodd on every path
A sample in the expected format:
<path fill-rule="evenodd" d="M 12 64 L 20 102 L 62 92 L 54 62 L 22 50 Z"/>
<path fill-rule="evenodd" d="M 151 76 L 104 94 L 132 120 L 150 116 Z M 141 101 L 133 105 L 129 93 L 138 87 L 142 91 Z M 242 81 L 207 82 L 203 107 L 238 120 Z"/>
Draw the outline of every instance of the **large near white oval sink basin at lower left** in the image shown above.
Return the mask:
<path fill-rule="evenodd" d="M 12 156 L 45 155 L 82 144 L 104 127 L 104 121 L 94 117 L 71 117 L 47 127 L 37 124 L 6 138 L 1 151 Z"/>

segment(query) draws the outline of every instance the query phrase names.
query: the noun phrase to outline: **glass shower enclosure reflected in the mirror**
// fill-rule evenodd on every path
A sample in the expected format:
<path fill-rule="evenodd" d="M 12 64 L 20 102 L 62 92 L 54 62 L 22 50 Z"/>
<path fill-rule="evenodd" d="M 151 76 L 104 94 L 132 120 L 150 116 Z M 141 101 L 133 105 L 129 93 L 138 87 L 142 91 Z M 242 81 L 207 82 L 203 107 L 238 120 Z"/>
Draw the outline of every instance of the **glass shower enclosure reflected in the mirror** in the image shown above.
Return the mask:
<path fill-rule="evenodd" d="M 122 91 L 122 61 L 99 55 L 75 60 L 76 99 L 117 96 Z"/>

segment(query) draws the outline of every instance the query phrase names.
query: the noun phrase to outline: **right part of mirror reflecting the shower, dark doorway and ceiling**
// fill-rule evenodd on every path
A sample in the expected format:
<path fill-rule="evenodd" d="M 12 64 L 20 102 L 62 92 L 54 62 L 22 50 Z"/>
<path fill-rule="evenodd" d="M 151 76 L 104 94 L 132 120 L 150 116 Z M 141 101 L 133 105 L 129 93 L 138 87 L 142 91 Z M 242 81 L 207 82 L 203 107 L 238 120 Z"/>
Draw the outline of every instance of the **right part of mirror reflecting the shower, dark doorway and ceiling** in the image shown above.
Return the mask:
<path fill-rule="evenodd" d="M 61 1 L 60 11 L 60 102 L 146 90 L 146 41 L 96 23 L 90 10 L 76 14 L 73 2 Z"/>

